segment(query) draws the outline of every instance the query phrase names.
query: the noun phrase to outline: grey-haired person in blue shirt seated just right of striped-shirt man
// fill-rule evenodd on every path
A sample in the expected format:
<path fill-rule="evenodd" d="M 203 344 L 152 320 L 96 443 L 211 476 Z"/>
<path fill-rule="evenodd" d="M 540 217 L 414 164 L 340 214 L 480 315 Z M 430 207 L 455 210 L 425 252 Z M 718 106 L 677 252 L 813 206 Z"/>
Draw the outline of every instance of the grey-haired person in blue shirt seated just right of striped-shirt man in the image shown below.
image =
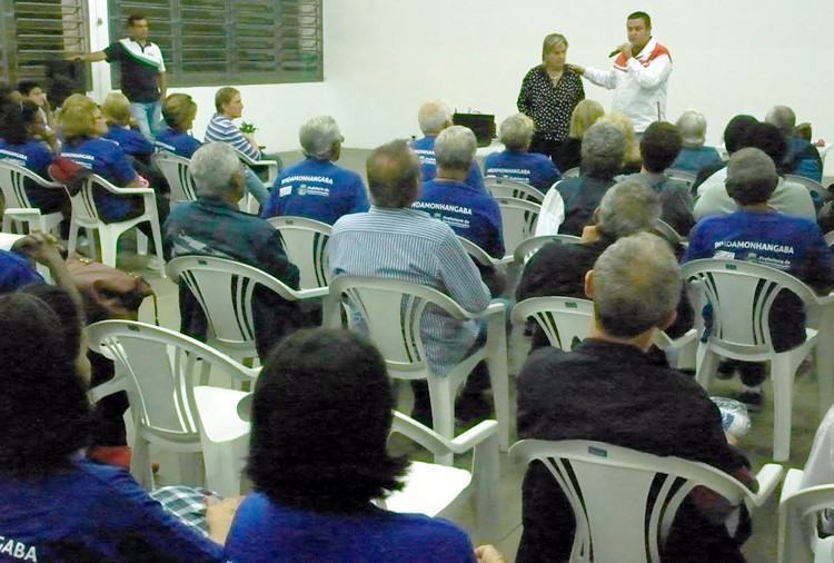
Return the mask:
<path fill-rule="evenodd" d="M 519 116 L 530 120 L 527 116 Z M 475 134 L 466 127 L 453 125 L 440 131 L 435 141 L 437 176 L 423 184 L 420 197 L 411 207 L 443 220 L 457 236 L 474 243 L 493 258 L 503 258 L 504 233 L 498 204 L 487 191 L 473 188 L 465 181 L 475 150 Z M 546 156 L 535 156 L 553 167 Z M 475 265 L 489 293 L 500 295 L 504 276 L 494 266 Z"/>

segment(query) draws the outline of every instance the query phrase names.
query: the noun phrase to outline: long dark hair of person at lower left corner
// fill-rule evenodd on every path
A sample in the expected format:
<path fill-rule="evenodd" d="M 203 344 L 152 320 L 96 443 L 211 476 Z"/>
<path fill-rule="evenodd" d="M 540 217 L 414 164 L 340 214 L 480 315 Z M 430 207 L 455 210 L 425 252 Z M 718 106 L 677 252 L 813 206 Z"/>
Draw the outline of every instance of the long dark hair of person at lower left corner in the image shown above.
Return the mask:
<path fill-rule="evenodd" d="M 29 293 L 0 296 L 0 475 L 54 474 L 88 444 L 92 412 L 64 328 L 76 322 Z"/>

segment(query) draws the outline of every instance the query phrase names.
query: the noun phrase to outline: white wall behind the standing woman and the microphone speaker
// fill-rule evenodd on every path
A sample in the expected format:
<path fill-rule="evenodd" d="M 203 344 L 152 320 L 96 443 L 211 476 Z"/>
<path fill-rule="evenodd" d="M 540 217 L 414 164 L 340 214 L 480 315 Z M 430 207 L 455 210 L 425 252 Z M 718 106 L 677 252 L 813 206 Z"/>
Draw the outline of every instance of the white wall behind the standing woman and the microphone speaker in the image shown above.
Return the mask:
<path fill-rule="evenodd" d="M 106 0 L 90 2 L 106 23 Z M 337 119 L 348 147 L 418 135 L 417 107 L 430 98 L 500 120 L 516 111 L 520 79 L 539 62 L 545 34 L 568 38 L 569 61 L 606 67 L 607 53 L 625 40 L 631 9 L 652 14 L 655 37 L 672 51 L 671 119 L 697 108 L 709 120 L 708 139 L 718 142 L 732 116 L 762 118 L 785 103 L 814 125 L 816 137 L 834 140 L 831 0 L 643 0 L 633 7 L 615 0 L 324 0 L 324 8 L 325 82 L 240 88 L 245 118 L 260 127 L 259 141 L 269 150 L 297 148 L 298 127 L 319 113 Z M 102 48 L 106 26 L 93 22 L 93 48 Z M 97 93 L 107 91 L 106 66 L 93 67 Z M 215 89 L 175 90 L 196 98 L 198 136 Z M 588 82 L 586 95 L 606 107 L 610 101 L 608 91 Z"/>

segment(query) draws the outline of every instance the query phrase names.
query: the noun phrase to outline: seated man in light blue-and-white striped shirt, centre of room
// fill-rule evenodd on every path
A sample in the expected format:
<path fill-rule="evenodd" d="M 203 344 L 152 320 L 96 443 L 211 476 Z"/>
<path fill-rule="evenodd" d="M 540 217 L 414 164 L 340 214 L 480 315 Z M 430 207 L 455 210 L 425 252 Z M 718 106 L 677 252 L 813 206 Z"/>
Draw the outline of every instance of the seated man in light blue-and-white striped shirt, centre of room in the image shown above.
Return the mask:
<path fill-rule="evenodd" d="M 367 213 L 346 215 L 334 225 L 328 245 L 331 275 L 423 284 L 447 294 L 468 312 L 483 312 L 489 305 L 489 292 L 455 233 L 446 223 L 411 208 L 420 190 L 420 165 L 406 142 L 374 149 L 367 175 L 373 205 Z M 421 333 L 426 363 L 441 376 L 484 337 L 477 320 L 459 322 L 437 310 L 426 312 Z M 456 407 L 459 417 L 488 413 L 489 403 L 483 397 L 488 383 L 484 372 L 469 375 Z M 431 421 L 426 382 L 414 382 L 413 388 L 413 416 Z"/>

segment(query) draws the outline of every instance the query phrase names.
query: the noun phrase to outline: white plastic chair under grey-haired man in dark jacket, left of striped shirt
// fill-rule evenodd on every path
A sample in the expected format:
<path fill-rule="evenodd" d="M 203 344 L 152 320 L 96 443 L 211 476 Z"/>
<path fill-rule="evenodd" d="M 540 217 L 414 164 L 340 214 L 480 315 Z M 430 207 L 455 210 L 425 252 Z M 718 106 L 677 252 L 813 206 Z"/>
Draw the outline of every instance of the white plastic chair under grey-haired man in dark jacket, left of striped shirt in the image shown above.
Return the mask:
<path fill-rule="evenodd" d="M 186 284 L 206 314 L 208 344 L 239 360 L 258 357 L 252 309 L 258 285 L 288 302 L 327 295 L 326 287 L 291 289 L 264 270 L 214 256 L 173 258 L 168 263 L 168 275 Z"/>

